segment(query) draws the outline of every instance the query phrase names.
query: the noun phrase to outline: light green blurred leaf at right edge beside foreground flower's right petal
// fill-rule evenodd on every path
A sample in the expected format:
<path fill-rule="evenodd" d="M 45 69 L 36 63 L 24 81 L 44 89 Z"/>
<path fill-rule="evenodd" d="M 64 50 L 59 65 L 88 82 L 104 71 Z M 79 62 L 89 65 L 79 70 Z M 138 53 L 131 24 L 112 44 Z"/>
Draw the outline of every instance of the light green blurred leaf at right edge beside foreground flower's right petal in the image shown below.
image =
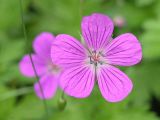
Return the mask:
<path fill-rule="evenodd" d="M 143 57 L 157 59 L 160 57 L 160 19 L 145 22 L 144 29 L 145 32 L 139 38 L 142 42 Z"/>

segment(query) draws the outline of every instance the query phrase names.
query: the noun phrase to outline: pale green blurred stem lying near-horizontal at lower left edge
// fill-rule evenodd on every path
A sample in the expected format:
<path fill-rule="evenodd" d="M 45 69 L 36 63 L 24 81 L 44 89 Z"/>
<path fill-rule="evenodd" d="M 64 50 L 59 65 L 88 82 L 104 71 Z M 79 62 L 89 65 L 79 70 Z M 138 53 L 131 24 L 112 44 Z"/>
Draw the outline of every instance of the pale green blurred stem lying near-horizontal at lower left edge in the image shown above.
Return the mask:
<path fill-rule="evenodd" d="M 31 92 L 33 92 L 33 87 L 24 87 L 24 88 L 20 88 L 20 89 L 15 89 L 15 90 L 12 90 L 11 92 L 1 94 L 0 102 L 5 101 L 5 100 L 12 98 L 12 97 L 17 97 L 17 96 L 28 94 Z"/>

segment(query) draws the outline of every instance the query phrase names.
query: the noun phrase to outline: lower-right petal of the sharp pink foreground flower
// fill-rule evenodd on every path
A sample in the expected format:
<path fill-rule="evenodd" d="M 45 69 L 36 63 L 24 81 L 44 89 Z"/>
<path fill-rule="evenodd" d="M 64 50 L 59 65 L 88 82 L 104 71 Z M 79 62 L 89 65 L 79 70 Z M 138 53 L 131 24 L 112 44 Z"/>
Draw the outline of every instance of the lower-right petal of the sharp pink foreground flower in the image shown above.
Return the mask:
<path fill-rule="evenodd" d="M 132 90 L 131 80 L 113 66 L 103 66 L 98 71 L 98 85 L 102 96 L 109 102 L 123 100 Z"/>

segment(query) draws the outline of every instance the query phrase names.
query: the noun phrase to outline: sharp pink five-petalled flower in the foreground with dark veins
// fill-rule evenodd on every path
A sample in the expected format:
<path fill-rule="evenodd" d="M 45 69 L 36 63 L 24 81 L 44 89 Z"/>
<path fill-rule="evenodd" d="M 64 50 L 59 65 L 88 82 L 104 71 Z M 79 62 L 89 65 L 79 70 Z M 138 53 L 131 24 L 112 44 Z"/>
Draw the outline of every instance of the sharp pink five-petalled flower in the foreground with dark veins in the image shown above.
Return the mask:
<path fill-rule="evenodd" d="M 139 41 L 131 33 L 112 40 L 113 22 L 103 14 L 84 17 L 81 28 L 84 45 L 65 34 L 58 35 L 52 44 L 52 61 L 65 69 L 60 77 L 61 87 L 70 96 L 84 98 L 98 82 L 107 101 L 123 100 L 133 85 L 115 66 L 132 66 L 141 61 Z"/>

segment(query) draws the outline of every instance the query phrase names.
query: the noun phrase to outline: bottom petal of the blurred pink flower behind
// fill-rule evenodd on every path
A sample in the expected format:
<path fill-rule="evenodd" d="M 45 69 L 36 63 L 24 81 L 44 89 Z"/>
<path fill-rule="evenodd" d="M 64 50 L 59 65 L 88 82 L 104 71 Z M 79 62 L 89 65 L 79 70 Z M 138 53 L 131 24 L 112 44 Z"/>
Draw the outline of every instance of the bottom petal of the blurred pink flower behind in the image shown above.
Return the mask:
<path fill-rule="evenodd" d="M 37 96 L 41 99 L 51 99 L 56 93 L 58 87 L 57 77 L 53 75 L 44 75 L 40 78 L 39 83 L 34 85 L 34 90 Z"/>

